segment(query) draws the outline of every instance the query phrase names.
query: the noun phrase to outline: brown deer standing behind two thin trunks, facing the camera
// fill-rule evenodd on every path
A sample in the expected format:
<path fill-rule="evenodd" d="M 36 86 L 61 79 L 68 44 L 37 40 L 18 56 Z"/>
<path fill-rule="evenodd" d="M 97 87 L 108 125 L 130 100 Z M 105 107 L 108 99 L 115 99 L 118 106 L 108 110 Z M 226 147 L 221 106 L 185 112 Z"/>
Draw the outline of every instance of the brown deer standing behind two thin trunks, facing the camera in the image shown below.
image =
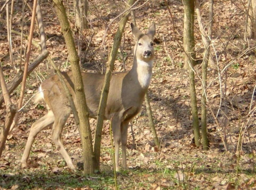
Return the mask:
<path fill-rule="evenodd" d="M 145 93 L 149 88 L 152 78 L 152 67 L 154 60 L 154 35 L 156 26 L 152 23 L 146 34 L 142 33 L 133 23 L 131 30 L 135 40 L 133 66 L 127 72 L 113 72 L 110 81 L 107 107 L 104 113 L 104 120 L 112 120 L 112 131 L 115 144 L 116 171 L 119 167 L 119 148 L 122 149 L 122 167 L 128 169 L 126 164 L 126 145 L 129 122 L 140 112 L 144 101 Z M 62 72 L 65 83 L 76 100 L 72 72 Z M 104 83 L 104 75 L 99 73 L 82 72 L 84 92 L 90 118 L 97 118 L 97 111 L 100 103 L 101 90 Z M 57 150 L 62 154 L 66 164 L 71 169 L 76 169 L 62 143 L 62 130 L 66 120 L 71 114 L 71 107 L 64 88 L 57 74 L 45 79 L 39 87 L 39 93 L 34 102 L 44 101 L 47 107 L 47 114 L 37 120 L 31 126 L 26 147 L 21 158 L 22 167 L 28 167 L 28 157 L 33 141 L 37 134 L 43 129 L 52 127 L 52 141 Z"/>

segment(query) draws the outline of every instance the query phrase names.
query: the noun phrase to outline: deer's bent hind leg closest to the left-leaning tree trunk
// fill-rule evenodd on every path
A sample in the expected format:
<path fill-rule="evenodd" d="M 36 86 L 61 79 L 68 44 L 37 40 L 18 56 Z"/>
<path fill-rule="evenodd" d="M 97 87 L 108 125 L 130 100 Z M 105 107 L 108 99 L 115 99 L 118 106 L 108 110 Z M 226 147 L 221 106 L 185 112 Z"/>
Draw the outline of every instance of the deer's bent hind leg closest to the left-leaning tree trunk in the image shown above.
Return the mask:
<path fill-rule="evenodd" d="M 65 113 L 65 114 L 62 112 L 60 114 L 61 115 L 59 115 L 59 116 L 55 116 L 55 122 L 53 124 L 53 129 L 52 129 L 52 141 L 55 143 L 57 149 L 62 154 L 68 167 L 71 169 L 76 169 L 76 167 L 73 165 L 71 158 L 69 157 L 69 154 L 67 153 L 66 149 L 64 148 L 64 145 L 62 142 L 62 130 L 66 123 L 66 120 L 69 118 L 70 112 Z"/>

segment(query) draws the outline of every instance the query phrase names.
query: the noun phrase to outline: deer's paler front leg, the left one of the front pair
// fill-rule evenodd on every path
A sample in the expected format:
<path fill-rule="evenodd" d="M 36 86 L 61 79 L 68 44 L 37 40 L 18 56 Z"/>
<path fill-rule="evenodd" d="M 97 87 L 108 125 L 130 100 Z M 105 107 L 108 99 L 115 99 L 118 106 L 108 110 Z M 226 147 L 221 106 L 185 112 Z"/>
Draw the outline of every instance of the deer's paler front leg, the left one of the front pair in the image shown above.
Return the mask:
<path fill-rule="evenodd" d="M 121 141 L 121 121 L 119 116 L 114 116 L 112 118 L 112 131 L 114 136 L 114 143 L 115 143 L 115 164 L 116 164 L 116 171 L 120 170 L 119 167 L 119 147 Z"/>

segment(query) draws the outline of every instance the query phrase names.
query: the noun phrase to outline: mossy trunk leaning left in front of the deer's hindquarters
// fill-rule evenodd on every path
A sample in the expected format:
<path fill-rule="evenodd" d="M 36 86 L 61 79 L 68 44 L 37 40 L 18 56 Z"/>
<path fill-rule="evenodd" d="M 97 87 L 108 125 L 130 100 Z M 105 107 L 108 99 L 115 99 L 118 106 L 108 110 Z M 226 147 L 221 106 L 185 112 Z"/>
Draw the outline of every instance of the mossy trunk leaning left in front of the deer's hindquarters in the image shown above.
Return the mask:
<path fill-rule="evenodd" d="M 83 165 L 84 174 L 92 174 L 93 168 L 93 149 L 92 149 L 92 136 L 90 131 L 89 113 L 85 100 L 85 93 L 83 88 L 83 80 L 81 76 L 81 70 L 79 67 L 79 58 L 76 52 L 76 46 L 73 40 L 73 34 L 70 30 L 68 18 L 66 16 L 66 10 L 61 0 L 53 0 L 55 3 L 55 10 L 59 23 L 62 28 L 64 39 L 66 42 L 67 50 L 69 53 L 69 60 L 71 63 L 71 70 L 73 72 L 73 83 L 75 86 L 76 98 L 79 100 L 77 104 L 77 111 L 79 117 L 79 132 L 81 136 L 81 144 L 83 148 Z"/>

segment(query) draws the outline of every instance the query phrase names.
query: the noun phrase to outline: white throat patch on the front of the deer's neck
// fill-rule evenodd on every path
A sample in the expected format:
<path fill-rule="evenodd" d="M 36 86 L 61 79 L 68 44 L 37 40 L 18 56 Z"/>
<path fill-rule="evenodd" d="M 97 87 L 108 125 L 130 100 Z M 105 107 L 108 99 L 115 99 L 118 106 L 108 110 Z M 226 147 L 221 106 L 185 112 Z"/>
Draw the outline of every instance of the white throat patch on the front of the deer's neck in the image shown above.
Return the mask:
<path fill-rule="evenodd" d="M 138 81 L 142 88 L 148 88 L 149 86 L 152 77 L 152 66 L 153 60 L 149 62 L 137 60 Z"/>

